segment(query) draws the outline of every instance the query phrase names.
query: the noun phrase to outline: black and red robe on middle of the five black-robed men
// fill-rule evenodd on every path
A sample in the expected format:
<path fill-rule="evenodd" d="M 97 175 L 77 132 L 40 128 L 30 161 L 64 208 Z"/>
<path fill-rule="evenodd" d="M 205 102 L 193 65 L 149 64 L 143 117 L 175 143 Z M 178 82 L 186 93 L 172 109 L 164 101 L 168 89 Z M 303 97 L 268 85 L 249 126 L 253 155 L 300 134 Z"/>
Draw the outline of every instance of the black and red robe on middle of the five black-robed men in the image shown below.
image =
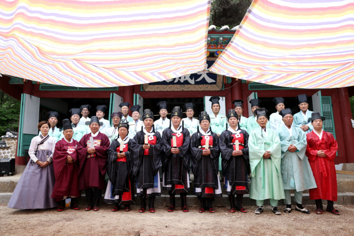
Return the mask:
<path fill-rule="evenodd" d="M 182 126 L 180 127 L 182 129 Z M 191 160 L 189 153 L 190 133 L 184 128 L 179 134 L 172 129 L 167 128 L 162 132 L 163 152 L 162 172 L 163 172 L 163 190 L 171 193 L 188 193 L 189 177 L 191 170 Z M 170 153 L 173 146 L 172 136 L 176 136 L 176 147 L 180 150 L 179 154 Z"/>

